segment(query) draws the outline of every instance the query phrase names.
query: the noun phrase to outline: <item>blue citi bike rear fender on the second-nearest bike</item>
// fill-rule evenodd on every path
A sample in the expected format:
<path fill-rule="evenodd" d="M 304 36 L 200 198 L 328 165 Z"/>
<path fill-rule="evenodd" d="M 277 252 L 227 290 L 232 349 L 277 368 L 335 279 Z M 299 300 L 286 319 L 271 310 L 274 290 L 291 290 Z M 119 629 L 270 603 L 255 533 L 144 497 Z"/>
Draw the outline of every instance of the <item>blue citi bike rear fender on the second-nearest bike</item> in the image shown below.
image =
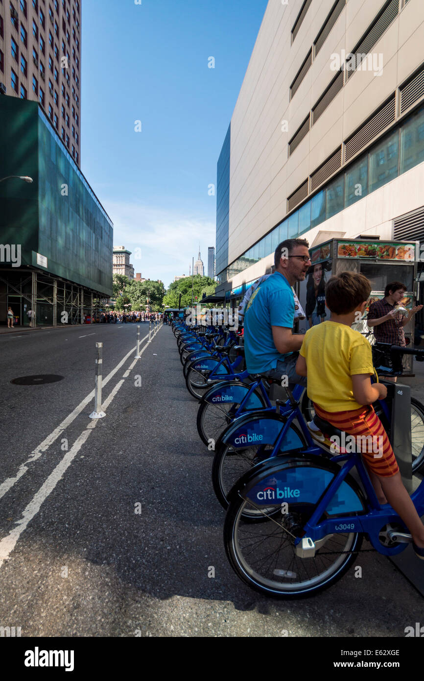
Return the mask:
<path fill-rule="evenodd" d="M 286 419 L 274 411 L 247 414 L 231 424 L 220 440 L 235 449 L 244 449 L 249 445 L 274 445 L 285 423 Z M 304 442 L 291 428 L 284 437 L 284 449 L 302 449 L 304 446 Z"/>

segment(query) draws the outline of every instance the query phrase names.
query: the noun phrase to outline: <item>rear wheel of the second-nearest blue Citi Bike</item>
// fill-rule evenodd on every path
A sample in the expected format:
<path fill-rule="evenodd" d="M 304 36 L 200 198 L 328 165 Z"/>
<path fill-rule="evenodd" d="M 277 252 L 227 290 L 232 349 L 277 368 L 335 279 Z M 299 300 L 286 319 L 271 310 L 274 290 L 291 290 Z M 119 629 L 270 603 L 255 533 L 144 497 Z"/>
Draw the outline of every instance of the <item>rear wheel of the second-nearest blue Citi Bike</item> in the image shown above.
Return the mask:
<path fill-rule="evenodd" d="M 304 439 L 304 435 L 295 426 L 291 424 L 291 430 L 294 431 L 297 438 L 303 443 L 305 447 L 308 445 Z M 256 466 L 256 464 L 267 460 L 272 454 L 274 447 L 272 445 L 253 445 L 252 447 L 246 447 L 245 449 L 235 449 L 231 445 L 225 445 L 224 443 L 216 449 L 214 462 L 212 463 L 212 484 L 214 486 L 214 492 L 216 498 L 223 508 L 228 508 L 228 494 L 244 473 Z M 284 452 L 281 452 L 283 455 Z M 293 456 L 293 450 L 291 450 L 291 456 Z M 244 518 L 261 518 L 262 513 L 254 507 L 250 511 L 244 511 Z"/>

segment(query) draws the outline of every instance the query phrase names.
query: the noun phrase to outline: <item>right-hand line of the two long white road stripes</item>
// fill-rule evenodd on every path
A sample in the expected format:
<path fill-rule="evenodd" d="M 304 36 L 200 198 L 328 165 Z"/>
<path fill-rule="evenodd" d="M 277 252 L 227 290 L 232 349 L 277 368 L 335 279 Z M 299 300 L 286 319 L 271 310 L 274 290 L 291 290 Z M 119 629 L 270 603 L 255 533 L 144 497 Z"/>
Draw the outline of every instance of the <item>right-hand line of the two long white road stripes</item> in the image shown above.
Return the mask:
<path fill-rule="evenodd" d="M 147 338 L 147 336 L 146 336 Z M 144 338 L 143 338 L 144 340 Z M 144 346 L 142 352 L 146 349 L 147 345 Z M 133 352 L 133 350 L 131 350 Z M 126 358 L 128 358 L 128 355 L 126 355 Z M 124 362 L 125 360 L 123 360 Z M 131 370 L 134 366 L 135 363 L 138 362 L 138 360 L 134 360 L 129 368 Z M 114 370 L 114 373 L 116 372 L 118 367 Z M 108 380 L 112 378 L 111 375 L 108 376 Z M 102 409 L 105 410 L 110 406 L 110 403 L 118 393 L 118 390 L 120 389 L 121 385 L 123 385 L 125 381 L 121 379 L 116 383 L 115 387 L 113 388 L 112 392 L 108 395 L 108 397 L 105 399 L 103 402 Z M 0 541 L 0 568 L 3 565 L 5 560 L 9 560 L 10 554 L 14 550 L 16 543 L 18 543 L 18 539 L 22 532 L 27 528 L 31 520 L 37 515 L 39 509 L 42 507 L 42 503 L 46 501 L 46 498 L 49 496 L 49 494 L 54 490 L 58 482 L 63 478 L 63 475 L 65 475 L 65 472 L 71 465 L 72 461 L 80 452 L 80 449 L 84 443 L 86 443 L 89 435 L 91 432 L 94 430 L 94 428 L 97 426 L 99 421 L 94 419 L 91 421 L 85 428 L 85 430 L 82 431 L 80 436 L 76 439 L 74 445 L 69 449 L 69 452 L 63 456 L 63 459 L 57 464 L 56 468 L 50 473 L 44 484 L 39 488 L 38 492 L 33 496 L 27 507 L 25 507 L 25 510 L 22 513 L 22 518 L 16 522 L 16 526 L 10 530 L 10 533 L 1 539 Z M 81 458 L 84 458 L 83 456 Z"/>

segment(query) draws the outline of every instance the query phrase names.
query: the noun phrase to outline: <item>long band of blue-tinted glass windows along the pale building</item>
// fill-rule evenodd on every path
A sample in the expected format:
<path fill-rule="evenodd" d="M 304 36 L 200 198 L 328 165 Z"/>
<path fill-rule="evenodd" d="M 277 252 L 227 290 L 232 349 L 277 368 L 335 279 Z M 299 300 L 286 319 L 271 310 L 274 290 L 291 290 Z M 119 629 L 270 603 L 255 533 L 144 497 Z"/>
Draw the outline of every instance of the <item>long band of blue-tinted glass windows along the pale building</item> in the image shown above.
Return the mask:
<path fill-rule="evenodd" d="M 275 251 L 287 238 L 305 234 L 338 212 L 424 161 L 424 107 L 372 146 L 329 184 L 295 210 L 270 234 L 219 275 L 227 281 Z"/>

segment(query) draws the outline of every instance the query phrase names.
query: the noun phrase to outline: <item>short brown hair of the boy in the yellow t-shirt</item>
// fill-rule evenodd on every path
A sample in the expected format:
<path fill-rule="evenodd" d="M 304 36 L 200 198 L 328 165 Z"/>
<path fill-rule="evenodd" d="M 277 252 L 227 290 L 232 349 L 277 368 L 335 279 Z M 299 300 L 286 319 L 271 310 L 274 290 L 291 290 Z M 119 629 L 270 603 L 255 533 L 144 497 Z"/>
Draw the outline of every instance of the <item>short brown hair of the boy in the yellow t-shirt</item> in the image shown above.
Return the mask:
<path fill-rule="evenodd" d="M 340 272 L 332 276 L 325 287 L 325 302 L 335 315 L 348 315 L 364 300 L 368 300 L 371 284 L 363 274 Z"/>

